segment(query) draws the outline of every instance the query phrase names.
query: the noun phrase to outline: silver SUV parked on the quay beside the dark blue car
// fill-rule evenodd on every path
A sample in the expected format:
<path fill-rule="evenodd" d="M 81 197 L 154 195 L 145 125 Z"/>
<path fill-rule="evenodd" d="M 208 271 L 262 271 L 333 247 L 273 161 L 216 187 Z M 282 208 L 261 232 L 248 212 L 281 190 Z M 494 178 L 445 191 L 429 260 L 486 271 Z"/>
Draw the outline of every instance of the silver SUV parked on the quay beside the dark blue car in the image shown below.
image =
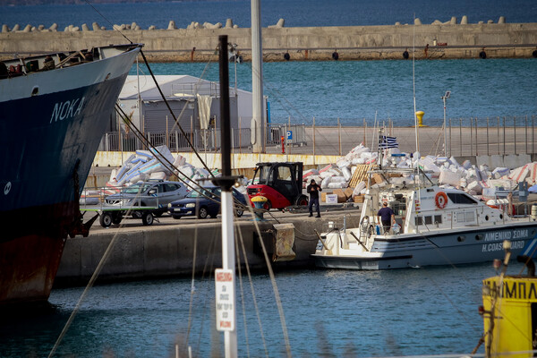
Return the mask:
<path fill-rule="evenodd" d="M 160 217 L 167 211 L 167 204 L 183 199 L 188 190 L 183 183 L 166 181 L 149 181 L 134 183 L 120 192 L 108 195 L 105 202 L 109 205 L 124 207 L 154 207 L 153 214 Z M 132 217 L 138 217 L 139 211 L 132 211 Z"/>

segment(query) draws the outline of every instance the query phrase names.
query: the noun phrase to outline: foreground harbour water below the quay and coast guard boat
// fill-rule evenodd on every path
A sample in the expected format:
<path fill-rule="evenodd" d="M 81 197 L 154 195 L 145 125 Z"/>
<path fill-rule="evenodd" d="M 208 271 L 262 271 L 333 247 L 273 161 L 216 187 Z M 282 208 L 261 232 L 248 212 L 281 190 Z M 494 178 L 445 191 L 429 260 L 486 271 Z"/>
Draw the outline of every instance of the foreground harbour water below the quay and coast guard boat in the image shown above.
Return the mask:
<path fill-rule="evenodd" d="M 520 269 L 513 263 L 508 272 Z M 482 336 L 482 279 L 495 274 L 491 263 L 371 272 L 304 269 L 277 272 L 276 283 L 294 357 L 469 354 Z M 242 286 L 239 356 L 286 356 L 268 275 L 254 274 L 251 284 L 243 277 Z M 53 310 L 0 319 L 0 355 L 47 356 L 82 290 L 56 288 L 49 300 Z M 188 346 L 194 357 L 223 356 L 214 307 L 209 274 L 193 283 L 176 278 L 94 286 L 54 356 L 174 357 L 175 344 L 183 357 Z"/>

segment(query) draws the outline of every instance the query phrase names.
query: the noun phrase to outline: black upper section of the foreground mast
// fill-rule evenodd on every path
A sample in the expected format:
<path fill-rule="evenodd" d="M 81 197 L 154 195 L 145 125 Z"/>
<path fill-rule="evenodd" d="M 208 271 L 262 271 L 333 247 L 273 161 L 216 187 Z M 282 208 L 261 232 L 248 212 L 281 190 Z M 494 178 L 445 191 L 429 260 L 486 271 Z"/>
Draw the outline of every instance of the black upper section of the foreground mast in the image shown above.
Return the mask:
<path fill-rule="evenodd" d="M 229 67 L 227 64 L 227 35 L 220 35 L 220 133 L 222 153 L 222 176 L 231 176 L 231 124 L 229 119 Z M 228 188 L 222 188 L 229 190 Z"/>

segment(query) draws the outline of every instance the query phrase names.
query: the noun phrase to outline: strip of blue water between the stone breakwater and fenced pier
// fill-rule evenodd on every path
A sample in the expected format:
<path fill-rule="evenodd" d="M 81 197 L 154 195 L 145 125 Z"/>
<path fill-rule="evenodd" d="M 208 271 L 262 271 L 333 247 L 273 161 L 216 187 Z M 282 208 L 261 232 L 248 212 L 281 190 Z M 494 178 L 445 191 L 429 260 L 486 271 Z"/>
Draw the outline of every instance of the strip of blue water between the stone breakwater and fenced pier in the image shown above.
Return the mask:
<path fill-rule="evenodd" d="M 190 74 L 218 81 L 218 64 L 149 64 L 156 74 Z M 142 74 L 149 74 L 145 65 Z M 131 74 L 136 74 L 133 66 Z M 413 72 L 415 73 L 413 76 Z M 234 86 L 235 65 L 229 77 Z M 413 125 L 413 83 L 416 110 L 424 124 L 442 125 L 447 90 L 447 119 L 470 117 L 496 121 L 517 116 L 524 125 L 537 115 L 537 58 L 487 60 L 382 60 L 277 62 L 263 64 L 264 95 L 270 102 L 270 121 L 294 124 L 362 125 L 388 120 Z M 413 80 L 414 79 L 414 80 Z M 251 90 L 251 64 L 236 64 L 237 87 Z M 491 122 L 495 123 L 495 122 Z"/>

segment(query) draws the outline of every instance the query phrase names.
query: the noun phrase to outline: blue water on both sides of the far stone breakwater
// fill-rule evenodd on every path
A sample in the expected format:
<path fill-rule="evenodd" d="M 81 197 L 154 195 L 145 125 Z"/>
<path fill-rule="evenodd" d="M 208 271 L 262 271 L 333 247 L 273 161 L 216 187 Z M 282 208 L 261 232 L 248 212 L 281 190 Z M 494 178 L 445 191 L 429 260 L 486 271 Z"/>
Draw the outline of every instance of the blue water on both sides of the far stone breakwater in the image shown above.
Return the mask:
<path fill-rule="evenodd" d="M 91 3 L 91 2 L 89 2 Z M 287 27 L 386 25 L 396 21 L 412 23 L 414 14 L 423 23 L 436 19 L 470 22 L 494 20 L 500 15 L 507 22 L 537 21 L 534 0 L 263 0 L 262 26 L 286 19 Z M 250 1 L 175 1 L 146 4 L 71 4 L 1 6 L 0 23 L 13 27 L 56 22 L 59 29 L 74 24 L 100 25 L 137 22 L 142 28 L 167 28 L 174 20 L 179 28 L 191 21 L 225 23 L 232 18 L 241 27 L 250 27 Z M 106 19 L 106 20 L 105 20 Z M 109 22 L 107 22 L 109 21 Z M 125 32 L 128 35 L 128 32 Z M 240 50 L 241 44 L 237 44 Z M 412 52 L 412 49 L 411 49 Z M 345 51 L 340 51 L 345 60 Z M 412 56 L 411 56 L 412 58 Z M 190 74 L 218 81 L 218 65 L 152 64 L 158 74 Z M 234 85 L 234 66 L 230 81 Z M 132 73 L 136 73 L 133 68 Z M 147 69 L 142 73 L 148 74 Z M 237 87 L 251 90 L 251 64 L 236 66 Z M 270 121 L 294 124 L 361 125 L 375 118 L 395 125 L 413 125 L 413 85 L 416 110 L 425 112 L 424 123 L 443 124 L 443 102 L 447 90 L 448 118 L 517 116 L 517 125 L 526 115 L 537 115 L 537 58 L 487 60 L 412 61 L 326 61 L 267 63 L 263 66 L 264 94 L 270 102 Z M 529 121 L 531 122 L 531 121 Z M 529 123 L 528 122 L 528 123 Z M 509 121 L 507 121 L 509 123 Z"/>

